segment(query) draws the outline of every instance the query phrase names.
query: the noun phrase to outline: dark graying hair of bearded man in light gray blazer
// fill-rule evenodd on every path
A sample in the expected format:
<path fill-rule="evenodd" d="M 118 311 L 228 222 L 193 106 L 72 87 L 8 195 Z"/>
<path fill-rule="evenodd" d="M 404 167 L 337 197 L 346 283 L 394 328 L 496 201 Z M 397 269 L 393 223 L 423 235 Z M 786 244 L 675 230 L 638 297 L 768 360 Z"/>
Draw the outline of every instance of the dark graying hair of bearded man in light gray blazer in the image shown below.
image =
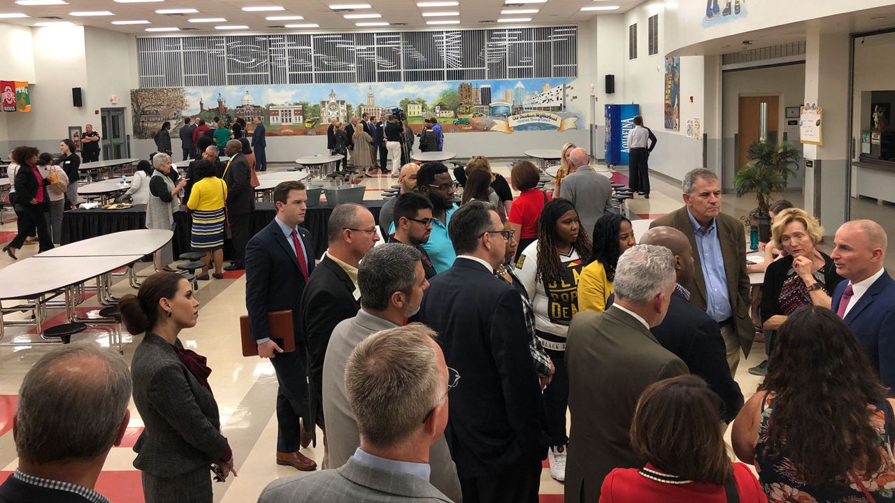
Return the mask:
<path fill-rule="evenodd" d="M 361 305 L 375 311 L 385 311 L 395 292 L 410 294 L 419 281 L 416 264 L 421 254 L 413 246 L 386 243 L 374 246 L 363 256 L 357 269 L 357 285 L 361 290 Z"/>

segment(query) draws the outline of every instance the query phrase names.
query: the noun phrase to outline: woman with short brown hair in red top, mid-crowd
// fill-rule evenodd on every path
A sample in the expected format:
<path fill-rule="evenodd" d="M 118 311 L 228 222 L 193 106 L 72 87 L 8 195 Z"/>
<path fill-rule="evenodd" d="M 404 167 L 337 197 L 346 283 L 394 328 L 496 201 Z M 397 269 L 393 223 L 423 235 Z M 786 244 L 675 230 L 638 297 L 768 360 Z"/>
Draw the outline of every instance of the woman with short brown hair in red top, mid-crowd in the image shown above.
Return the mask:
<path fill-rule="evenodd" d="M 526 246 L 538 239 L 538 219 L 541 209 L 550 200 L 547 192 L 538 189 L 541 175 L 538 168 L 528 161 L 517 162 L 509 172 L 513 188 L 521 192 L 509 209 L 510 226 L 516 231 L 519 247 L 516 249 L 516 260 Z"/>

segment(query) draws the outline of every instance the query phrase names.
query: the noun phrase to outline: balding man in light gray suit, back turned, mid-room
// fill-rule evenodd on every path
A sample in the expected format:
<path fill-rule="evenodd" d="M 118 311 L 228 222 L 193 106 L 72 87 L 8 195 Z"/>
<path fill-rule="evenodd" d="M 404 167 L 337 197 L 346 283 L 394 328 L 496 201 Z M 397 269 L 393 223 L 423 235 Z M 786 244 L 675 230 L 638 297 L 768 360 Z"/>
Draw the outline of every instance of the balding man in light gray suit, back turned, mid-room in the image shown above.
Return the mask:
<path fill-rule="evenodd" d="M 609 178 L 593 171 L 587 150 L 572 149 L 568 157 L 575 171 L 563 178 L 559 197 L 572 201 L 581 226 L 587 235 L 591 235 L 597 220 L 613 211 L 612 183 L 609 183 Z"/>

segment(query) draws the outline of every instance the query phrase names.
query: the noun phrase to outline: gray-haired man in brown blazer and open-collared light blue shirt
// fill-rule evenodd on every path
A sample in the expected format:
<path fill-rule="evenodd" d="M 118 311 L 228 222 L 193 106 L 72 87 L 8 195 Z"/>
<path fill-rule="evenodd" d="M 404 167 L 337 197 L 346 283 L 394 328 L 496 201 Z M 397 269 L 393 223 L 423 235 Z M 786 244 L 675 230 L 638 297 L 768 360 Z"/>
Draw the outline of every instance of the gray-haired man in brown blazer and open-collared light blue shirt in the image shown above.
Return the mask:
<path fill-rule="evenodd" d="M 694 275 L 684 286 L 690 302 L 718 322 L 727 347 L 730 375 L 737 375 L 739 350 L 749 355 L 755 328 L 749 318 L 749 275 L 743 223 L 721 213 L 718 175 L 694 169 L 684 176 L 684 208 L 657 218 L 650 227 L 669 226 L 693 247 Z"/>

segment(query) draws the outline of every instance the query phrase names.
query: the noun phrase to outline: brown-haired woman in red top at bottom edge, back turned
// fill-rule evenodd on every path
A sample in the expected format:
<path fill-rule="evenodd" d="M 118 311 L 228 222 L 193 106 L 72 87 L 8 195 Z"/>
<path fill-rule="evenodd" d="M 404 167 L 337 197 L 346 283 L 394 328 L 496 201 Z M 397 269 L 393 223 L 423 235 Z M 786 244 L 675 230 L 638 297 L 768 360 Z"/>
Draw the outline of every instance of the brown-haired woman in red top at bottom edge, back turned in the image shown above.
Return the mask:
<path fill-rule="evenodd" d="M 749 468 L 730 463 L 720 406 L 705 381 L 692 375 L 644 389 L 631 422 L 631 447 L 646 466 L 612 470 L 600 502 L 767 503 Z"/>

